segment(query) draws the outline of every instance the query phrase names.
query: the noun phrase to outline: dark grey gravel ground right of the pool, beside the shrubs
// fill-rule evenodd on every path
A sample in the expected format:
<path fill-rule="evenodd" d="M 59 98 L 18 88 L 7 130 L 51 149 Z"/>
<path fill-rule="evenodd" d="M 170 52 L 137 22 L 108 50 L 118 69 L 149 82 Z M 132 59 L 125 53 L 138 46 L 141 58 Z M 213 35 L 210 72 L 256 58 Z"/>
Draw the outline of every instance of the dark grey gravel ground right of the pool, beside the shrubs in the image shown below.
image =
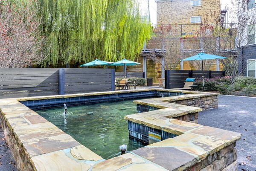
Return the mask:
<path fill-rule="evenodd" d="M 199 113 L 198 123 L 241 133 L 236 142 L 239 171 L 256 171 L 256 98 L 218 96 L 218 109 Z"/>

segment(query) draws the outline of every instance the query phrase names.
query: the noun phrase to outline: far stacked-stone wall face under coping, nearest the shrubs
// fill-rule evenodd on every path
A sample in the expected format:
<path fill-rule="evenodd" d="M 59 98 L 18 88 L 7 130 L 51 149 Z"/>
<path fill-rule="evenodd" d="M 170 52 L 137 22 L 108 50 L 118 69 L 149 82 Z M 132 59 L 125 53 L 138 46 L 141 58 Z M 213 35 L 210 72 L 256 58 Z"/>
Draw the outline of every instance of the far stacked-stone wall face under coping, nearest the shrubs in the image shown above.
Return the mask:
<path fill-rule="evenodd" d="M 183 104 L 187 106 L 201 107 L 203 110 L 217 109 L 218 96 L 198 97 L 193 99 L 184 99 L 172 101 L 171 103 Z"/>

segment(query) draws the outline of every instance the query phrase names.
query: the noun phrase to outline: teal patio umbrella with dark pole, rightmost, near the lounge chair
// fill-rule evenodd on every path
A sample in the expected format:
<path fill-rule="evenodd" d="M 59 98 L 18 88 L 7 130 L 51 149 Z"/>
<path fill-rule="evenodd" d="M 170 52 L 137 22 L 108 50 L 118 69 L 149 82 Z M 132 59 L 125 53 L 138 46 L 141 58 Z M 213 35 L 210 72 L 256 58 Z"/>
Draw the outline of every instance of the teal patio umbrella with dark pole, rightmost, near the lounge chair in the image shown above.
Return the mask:
<path fill-rule="evenodd" d="M 195 60 L 201 60 L 202 61 L 202 77 L 203 77 L 203 86 L 204 86 L 204 65 L 203 65 L 203 60 L 207 59 L 226 59 L 226 57 L 223 56 L 218 56 L 218 55 L 211 55 L 211 54 L 206 54 L 204 52 L 200 52 L 195 56 L 191 56 L 186 59 L 182 59 L 181 61 L 195 61 Z"/>

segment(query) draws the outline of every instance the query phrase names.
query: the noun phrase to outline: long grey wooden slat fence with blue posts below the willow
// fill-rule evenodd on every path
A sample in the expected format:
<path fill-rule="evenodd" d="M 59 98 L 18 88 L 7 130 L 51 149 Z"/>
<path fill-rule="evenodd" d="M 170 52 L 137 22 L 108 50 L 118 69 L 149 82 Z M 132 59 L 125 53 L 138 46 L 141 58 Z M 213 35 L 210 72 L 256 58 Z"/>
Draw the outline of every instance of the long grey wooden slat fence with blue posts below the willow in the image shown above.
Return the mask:
<path fill-rule="evenodd" d="M 0 68 L 0 99 L 115 89 L 114 69 Z"/>

